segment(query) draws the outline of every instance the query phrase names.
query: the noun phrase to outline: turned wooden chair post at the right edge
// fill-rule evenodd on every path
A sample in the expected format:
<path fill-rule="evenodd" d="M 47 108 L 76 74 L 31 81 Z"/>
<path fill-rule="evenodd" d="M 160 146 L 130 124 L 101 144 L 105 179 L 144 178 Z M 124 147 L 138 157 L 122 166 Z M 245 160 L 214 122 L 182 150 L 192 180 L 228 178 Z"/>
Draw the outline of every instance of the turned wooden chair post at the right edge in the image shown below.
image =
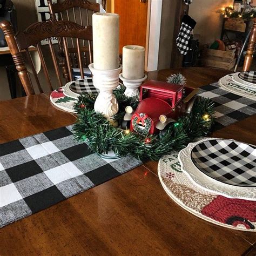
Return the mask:
<path fill-rule="evenodd" d="M 253 26 L 252 26 L 248 46 L 247 46 L 245 62 L 244 62 L 244 67 L 242 68 L 242 71 L 250 71 L 250 67 L 252 65 L 252 60 L 253 60 L 253 53 L 255 49 L 255 43 L 256 43 L 256 18 L 253 19 Z"/>

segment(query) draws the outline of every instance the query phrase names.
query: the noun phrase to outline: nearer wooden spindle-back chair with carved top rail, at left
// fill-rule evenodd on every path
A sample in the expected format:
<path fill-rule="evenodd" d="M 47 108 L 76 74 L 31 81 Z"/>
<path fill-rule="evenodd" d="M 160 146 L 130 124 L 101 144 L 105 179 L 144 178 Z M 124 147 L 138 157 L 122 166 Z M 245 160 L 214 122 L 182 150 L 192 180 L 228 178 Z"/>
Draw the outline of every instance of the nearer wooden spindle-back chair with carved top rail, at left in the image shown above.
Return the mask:
<path fill-rule="evenodd" d="M 34 23 L 30 25 L 26 30 L 16 33 L 16 35 L 14 33 L 14 29 L 12 28 L 11 23 L 8 21 L 1 22 L 0 28 L 2 28 L 4 32 L 6 42 L 10 48 L 12 58 L 14 59 L 16 69 L 18 70 L 19 78 L 21 79 L 26 95 L 35 94 L 35 90 L 33 88 L 33 84 L 31 82 L 29 72 L 26 69 L 25 58 L 22 54 L 22 51 L 24 50 L 26 52 L 26 57 L 28 58 L 29 63 L 32 67 L 32 73 L 33 73 L 33 76 L 35 77 L 35 81 L 39 89 L 39 92 L 41 93 L 43 92 L 41 83 L 39 82 L 39 78 L 35 70 L 35 66 L 33 65 L 30 52 L 28 50 L 29 46 L 31 45 L 37 47 L 39 57 L 42 63 L 42 68 L 44 71 L 44 76 L 50 91 L 53 90 L 53 86 L 49 76 L 48 68 L 46 67 L 46 62 L 43 56 L 42 47 L 47 47 L 47 48 L 49 47 L 49 52 L 50 52 L 55 73 L 57 76 L 58 87 L 63 86 L 62 76 L 60 75 L 60 70 L 57 63 L 57 55 L 55 53 L 55 47 L 52 44 L 51 38 L 58 37 L 63 42 L 64 55 L 66 57 L 66 64 L 68 66 L 69 80 L 72 80 L 72 68 L 71 68 L 71 62 L 69 59 L 69 48 L 68 48 L 67 38 L 75 38 L 76 46 L 75 45 L 74 46 L 77 49 L 79 69 L 83 77 L 83 61 L 82 61 L 80 41 L 92 41 L 92 26 L 85 27 L 74 22 L 53 21 L 52 19 L 50 19 L 47 22 Z M 48 41 L 49 45 L 41 46 L 41 41 L 45 39 Z M 90 56 L 92 56 L 91 51 L 90 51 Z"/>

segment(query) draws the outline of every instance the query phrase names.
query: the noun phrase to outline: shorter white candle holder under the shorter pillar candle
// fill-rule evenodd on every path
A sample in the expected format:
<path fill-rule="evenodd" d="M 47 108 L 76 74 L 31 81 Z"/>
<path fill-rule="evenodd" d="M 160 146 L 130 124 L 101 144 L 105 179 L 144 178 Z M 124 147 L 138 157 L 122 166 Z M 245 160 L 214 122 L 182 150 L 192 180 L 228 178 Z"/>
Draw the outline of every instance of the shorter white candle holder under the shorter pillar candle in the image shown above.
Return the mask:
<path fill-rule="evenodd" d="M 119 78 L 123 81 L 126 90 L 124 95 L 127 97 L 139 97 L 139 86 L 147 79 L 147 75 L 144 75 L 140 79 L 127 79 L 123 77 L 123 73 L 120 73 Z"/>

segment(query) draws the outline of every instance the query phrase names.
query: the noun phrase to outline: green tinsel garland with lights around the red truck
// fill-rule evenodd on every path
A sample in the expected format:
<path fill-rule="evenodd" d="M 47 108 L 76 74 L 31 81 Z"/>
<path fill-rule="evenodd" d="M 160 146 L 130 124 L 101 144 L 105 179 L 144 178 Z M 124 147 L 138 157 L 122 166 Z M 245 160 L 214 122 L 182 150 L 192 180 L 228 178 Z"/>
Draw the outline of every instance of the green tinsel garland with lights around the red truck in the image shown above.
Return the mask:
<path fill-rule="evenodd" d="M 113 117 L 119 126 L 122 123 L 125 107 L 136 109 L 138 100 L 123 95 L 125 87 L 113 91 L 119 103 L 119 112 Z M 99 154 L 113 151 L 118 156 L 127 156 L 128 152 L 140 160 L 159 160 L 165 154 L 183 149 L 195 138 L 206 136 L 214 123 L 214 103 L 207 98 L 197 97 L 188 116 L 178 118 L 163 136 L 153 134 L 149 137 L 135 132 L 124 131 L 112 126 L 93 105 L 97 94 L 79 96 L 75 105 L 77 121 L 73 126 L 75 139 L 86 142 L 89 148 Z"/>

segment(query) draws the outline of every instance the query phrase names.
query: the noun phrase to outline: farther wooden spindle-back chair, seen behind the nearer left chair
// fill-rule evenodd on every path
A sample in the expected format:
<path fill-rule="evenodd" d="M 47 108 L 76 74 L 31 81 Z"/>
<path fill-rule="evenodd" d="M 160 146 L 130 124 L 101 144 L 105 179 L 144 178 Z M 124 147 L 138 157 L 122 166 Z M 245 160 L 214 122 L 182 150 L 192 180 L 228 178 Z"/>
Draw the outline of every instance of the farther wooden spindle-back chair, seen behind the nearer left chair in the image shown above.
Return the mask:
<path fill-rule="evenodd" d="M 106 5 L 106 1 L 103 1 L 103 8 Z M 57 3 L 52 3 L 52 0 L 48 0 L 48 6 L 49 6 L 49 11 L 52 19 L 56 19 L 58 21 L 72 21 L 75 23 L 78 23 L 80 25 L 90 25 L 91 21 L 91 16 L 94 12 L 99 12 L 100 11 L 100 5 L 98 3 L 92 3 L 87 0 L 65 0 L 63 2 L 58 1 Z M 66 66 L 64 63 L 64 58 L 63 56 L 63 47 L 62 47 L 62 42 L 61 39 L 58 38 L 59 41 L 59 59 L 60 63 L 59 65 L 62 66 L 63 70 L 63 76 L 66 79 L 66 82 L 69 82 L 69 76 L 68 73 L 66 72 Z M 83 62 L 85 68 L 92 63 L 92 56 L 88 56 L 88 52 L 91 51 L 92 45 L 91 42 L 85 42 L 83 41 L 83 46 L 81 48 L 82 55 L 83 55 Z M 70 60 L 72 64 L 72 68 L 77 68 L 78 66 L 78 56 L 77 56 L 77 51 L 74 47 L 75 41 L 74 40 L 69 40 L 68 41 L 68 48 L 69 48 L 69 53 L 70 53 Z M 89 58 L 88 58 L 89 57 Z"/>

